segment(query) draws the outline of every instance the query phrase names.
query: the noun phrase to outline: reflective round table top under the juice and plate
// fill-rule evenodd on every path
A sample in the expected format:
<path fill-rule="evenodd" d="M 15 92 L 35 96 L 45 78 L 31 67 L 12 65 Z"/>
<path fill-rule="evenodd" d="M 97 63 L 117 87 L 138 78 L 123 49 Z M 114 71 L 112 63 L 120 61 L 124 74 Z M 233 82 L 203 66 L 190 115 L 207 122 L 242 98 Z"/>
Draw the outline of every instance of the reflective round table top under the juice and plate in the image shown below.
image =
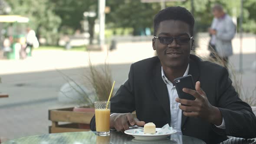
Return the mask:
<path fill-rule="evenodd" d="M 2 144 L 205 144 L 205 142 L 179 134 L 171 134 L 161 140 L 144 141 L 117 131 L 110 131 L 110 136 L 97 136 L 93 131 L 82 131 L 21 137 Z"/>

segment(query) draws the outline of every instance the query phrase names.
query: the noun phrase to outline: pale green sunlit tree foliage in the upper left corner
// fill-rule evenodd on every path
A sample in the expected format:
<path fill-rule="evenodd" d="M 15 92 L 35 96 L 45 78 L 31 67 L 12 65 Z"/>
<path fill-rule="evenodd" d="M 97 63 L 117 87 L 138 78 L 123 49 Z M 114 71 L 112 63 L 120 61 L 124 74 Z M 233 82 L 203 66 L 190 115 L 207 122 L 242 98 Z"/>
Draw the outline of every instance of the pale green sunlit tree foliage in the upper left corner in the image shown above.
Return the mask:
<path fill-rule="evenodd" d="M 29 26 L 38 36 L 46 38 L 48 44 L 56 44 L 61 19 L 53 10 L 50 0 L 6 0 L 12 8 L 9 14 L 27 16 Z"/>

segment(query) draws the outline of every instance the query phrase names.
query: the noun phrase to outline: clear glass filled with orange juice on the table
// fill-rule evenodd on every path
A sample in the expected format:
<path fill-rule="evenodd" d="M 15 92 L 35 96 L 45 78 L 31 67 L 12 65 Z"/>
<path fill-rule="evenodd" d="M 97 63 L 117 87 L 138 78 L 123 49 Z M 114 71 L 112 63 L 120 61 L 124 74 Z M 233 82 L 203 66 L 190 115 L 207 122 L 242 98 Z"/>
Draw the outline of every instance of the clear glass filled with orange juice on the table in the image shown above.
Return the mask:
<path fill-rule="evenodd" d="M 110 101 L 95 101 L 94 108 L 96 134 L 100 136 L 108 136 L 110 134 Z"/>

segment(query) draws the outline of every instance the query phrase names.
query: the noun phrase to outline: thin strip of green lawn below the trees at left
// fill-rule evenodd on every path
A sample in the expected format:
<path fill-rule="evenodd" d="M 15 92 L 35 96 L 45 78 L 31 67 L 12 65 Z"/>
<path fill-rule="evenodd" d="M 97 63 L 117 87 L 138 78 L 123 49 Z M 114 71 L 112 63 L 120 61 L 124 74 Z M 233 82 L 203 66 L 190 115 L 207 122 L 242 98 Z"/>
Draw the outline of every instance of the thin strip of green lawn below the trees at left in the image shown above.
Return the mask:
<path fill-rule="evenodd" d="M 34 50 L 66 50 L 64 46 L 39 46 Z M 70 51 L 86 51 L 86 46 L 73 46 Z"/>

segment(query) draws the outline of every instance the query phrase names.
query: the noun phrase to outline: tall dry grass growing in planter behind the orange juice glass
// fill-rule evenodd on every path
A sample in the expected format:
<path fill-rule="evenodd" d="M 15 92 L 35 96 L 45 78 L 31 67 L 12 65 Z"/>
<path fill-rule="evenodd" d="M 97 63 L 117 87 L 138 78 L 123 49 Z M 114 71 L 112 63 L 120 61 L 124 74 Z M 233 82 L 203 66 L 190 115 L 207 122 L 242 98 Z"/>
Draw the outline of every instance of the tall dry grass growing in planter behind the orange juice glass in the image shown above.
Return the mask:
<path fill-rule="evenodd" d="M 59 70 L 57 71 L 62 74 L 69 86 L 80 95 L 80 98 L 76 99 L 79 107 L 94 108 L 95 101 L 108 101 L 113 80 L 111 69 L 106 61 L 103 67 L 95 66 L 92 64 L 89 56 L 89 70 L 82 74 L 82 81 L 85 82 L 85 85 L 89 85 L 89 87 L 92 88 L 92 90 L 90 90 L 92 95 L 89 94 L 89 92 L 85 92 L 81 84 L 74 79 Z M 68 98 L 72 98 L 71 96 L 66 95 L 65 92 L 62 92 L 62 94 Z M 114 92 L 112 92 L 112 96 L 113 94 Z"/>

